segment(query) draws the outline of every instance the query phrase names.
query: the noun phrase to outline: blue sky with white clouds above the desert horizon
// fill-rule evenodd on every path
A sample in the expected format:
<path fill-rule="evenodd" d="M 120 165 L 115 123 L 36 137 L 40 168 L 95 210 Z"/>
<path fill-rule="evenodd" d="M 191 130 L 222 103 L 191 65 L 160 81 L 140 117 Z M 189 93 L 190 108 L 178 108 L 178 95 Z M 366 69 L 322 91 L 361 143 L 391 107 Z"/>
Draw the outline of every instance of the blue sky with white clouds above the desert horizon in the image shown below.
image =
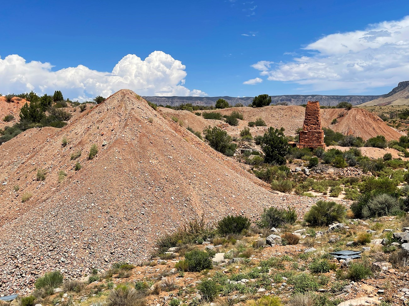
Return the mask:
<path fill-rule="evenodd" d="M 2 11 L 3 94 L 383 94 L 409 80 L 408 1 L 9 1 Z"/>

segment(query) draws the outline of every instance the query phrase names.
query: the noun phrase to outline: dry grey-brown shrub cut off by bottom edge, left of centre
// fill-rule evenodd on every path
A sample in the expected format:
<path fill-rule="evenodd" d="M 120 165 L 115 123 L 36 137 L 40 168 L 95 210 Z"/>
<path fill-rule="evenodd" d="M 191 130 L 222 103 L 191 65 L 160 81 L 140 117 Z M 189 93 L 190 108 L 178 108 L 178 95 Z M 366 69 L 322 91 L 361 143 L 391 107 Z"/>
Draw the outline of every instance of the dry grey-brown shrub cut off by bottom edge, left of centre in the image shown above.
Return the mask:
<path fill-rule="evenodd" d="M 145 297 L 135 288 L 126 284 L 120 284 L 115 289 L 110 290 L 106 298 L 107 306 L 144 306 Z"/>

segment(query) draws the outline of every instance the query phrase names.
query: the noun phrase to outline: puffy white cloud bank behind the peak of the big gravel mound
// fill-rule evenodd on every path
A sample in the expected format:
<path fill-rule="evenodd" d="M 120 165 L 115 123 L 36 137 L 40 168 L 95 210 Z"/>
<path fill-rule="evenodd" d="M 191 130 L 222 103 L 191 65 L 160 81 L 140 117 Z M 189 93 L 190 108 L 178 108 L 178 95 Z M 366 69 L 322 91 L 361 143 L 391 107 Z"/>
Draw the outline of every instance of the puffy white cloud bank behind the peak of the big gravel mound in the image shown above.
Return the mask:
<path fill-rule="evenodd" d="M 83 65 L 57 71 L 52 71 L 53 67 L 47 62 L 26 62 L 16 54 L 4 59 L 0 57 L 0 92 L 52 94 L 61 90 L 64 96 L 79 100 L 97 95 L 108 97 L 119 89 L 131 89 L 139 95 L 207 95 L 183 86 L 186 67 L 162 51 L 152 52 L 145 60 L 128 54 L 111 72 L 96 71 Z"/>

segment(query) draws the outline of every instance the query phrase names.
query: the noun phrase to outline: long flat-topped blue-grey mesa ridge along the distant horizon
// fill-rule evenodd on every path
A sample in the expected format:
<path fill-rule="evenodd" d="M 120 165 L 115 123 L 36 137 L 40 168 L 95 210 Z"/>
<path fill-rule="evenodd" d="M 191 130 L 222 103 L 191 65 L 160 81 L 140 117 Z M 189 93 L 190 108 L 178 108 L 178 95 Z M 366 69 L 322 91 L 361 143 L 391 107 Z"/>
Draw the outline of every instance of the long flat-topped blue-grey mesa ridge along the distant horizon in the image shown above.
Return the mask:
<path fill-rule="evenodd" d="M 381 98 L 381 95 L 272 95 L 271 104 L 278 102 L 287 102 L 289 105 L 301 105 L 307 104 L 308 101 L 319 101 L 324 106 L 335 106 L 339 102 L 349 102 L 353 105 L 362 104 L 371 100 Z M 241 103 L 247 106 L 253 102 L 254 97 L 157 97 L 157 96 L 144 96 L 145 100 L 151 101 L 156 104 L 162 104 L 164 106 L 178 106 L 180 104 L 191 103 L 193 105 L 206 105 L 211 106 L 216 104 L 218 99 L 225 99 L 229 104 L 234 105 Z"/>

